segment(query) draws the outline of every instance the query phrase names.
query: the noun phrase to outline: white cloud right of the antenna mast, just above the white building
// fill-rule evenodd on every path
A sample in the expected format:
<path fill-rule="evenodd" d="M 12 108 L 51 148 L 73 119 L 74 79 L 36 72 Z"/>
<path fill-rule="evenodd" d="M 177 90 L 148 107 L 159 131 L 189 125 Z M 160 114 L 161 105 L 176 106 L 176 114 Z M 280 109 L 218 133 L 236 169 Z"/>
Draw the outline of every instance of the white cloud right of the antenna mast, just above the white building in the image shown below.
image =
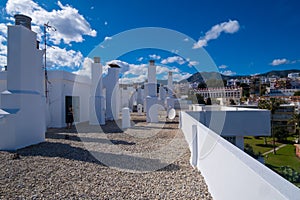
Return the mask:
<path fill-rule="evenodd" d="M 57 46 L 47 49 L 47 67 L 69 67 L 75 69 L 82 64 L 83 56 L 80 51 L 61 49 Z"/>

